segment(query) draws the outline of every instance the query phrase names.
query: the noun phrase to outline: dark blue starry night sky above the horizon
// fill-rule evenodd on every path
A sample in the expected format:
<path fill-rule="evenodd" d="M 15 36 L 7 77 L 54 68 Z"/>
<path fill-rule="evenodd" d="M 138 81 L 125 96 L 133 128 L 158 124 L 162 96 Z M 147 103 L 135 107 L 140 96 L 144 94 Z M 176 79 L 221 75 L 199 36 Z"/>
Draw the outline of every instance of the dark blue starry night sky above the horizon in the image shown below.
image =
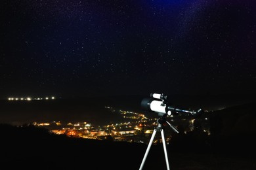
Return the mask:
<path fill-rule="evenodd" d="M 0 98 L 256 94 L 252 0 L 3 0 Z"/>

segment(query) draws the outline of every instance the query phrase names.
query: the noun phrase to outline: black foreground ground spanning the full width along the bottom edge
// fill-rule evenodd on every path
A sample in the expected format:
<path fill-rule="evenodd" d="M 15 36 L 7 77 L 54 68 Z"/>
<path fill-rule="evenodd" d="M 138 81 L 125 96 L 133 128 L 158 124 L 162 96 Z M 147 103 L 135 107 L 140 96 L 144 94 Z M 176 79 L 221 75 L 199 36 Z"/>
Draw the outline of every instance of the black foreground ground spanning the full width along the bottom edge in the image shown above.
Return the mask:
<path fill-rule="evenodd" d="M 139 169 L 147 147 L 142 143 L 54 135 L 43 127 L 35 126 L 1 124 L 0 133 L 0 163 L 6 169 Z M 193 143 L 192 138 L 188 139 L 183 143 Z M 226 154 L 220 152 L 222 148 L 217 148 L 219 152 L 183 152 L 181 147 L 184 146 L 172 150 L 167 146 L 171 169 L 238 170 L 256 167 L 255 156 L 246 152 Z M 151 146 L 144 169 L 167 169 L 161 143 Z"/>

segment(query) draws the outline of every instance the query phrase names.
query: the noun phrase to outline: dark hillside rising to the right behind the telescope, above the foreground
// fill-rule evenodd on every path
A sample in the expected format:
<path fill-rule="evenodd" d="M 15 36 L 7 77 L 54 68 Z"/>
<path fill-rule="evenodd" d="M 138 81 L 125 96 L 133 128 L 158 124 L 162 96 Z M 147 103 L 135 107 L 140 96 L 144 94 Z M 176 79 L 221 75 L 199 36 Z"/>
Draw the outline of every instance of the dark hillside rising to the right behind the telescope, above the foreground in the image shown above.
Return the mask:
<path fill-rule="evenodd" d="M 173 152 L 244 155 L 255 158 L 255 104 L 246 103 L 223 110 L 204 112 L 194 120 L 193 131 L 179 128 L 173 133 L 169 148 Z M 202 128 L 202 120 L 209 121 L 210 135 Z"/>

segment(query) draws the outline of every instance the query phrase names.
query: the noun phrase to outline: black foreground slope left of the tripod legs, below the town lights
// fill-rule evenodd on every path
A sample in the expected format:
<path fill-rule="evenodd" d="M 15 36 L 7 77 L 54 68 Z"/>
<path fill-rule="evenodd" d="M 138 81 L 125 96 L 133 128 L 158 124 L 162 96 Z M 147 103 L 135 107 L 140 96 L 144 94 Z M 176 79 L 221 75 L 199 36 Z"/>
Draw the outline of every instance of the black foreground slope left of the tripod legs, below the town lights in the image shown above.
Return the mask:
<path fill-rule="evenodd" d="M 144 144 L 54 135 L 47 129 L 1 125 L 1 167 L 7 169 L 137 169 Z M 134 157 L 135 156 L 135 157 Z M 132 162 L 132 163 L 131 163 Z"/>

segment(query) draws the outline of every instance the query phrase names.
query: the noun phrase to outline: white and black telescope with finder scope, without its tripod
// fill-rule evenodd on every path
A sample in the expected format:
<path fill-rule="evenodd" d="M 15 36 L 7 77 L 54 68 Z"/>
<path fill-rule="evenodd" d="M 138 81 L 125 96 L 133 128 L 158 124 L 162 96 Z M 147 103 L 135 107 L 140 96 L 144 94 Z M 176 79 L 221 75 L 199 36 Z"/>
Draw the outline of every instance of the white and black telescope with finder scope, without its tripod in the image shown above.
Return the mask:
<path fill-rule="evenodd" d="M 152 98 L 150 98 L 152 97 Z M 159 116 L 163 115 L 177 115 L 178 113 L 186 113 L 188 116 L 198 117 L 202 114 L 203 110 L 184 110 L 178 109 L 168 104 L 167 95 L 163 93 L 150 93 L 150 97 L 146 97 L 142 99 L 140 105 L 144 110 L 152 110 L 154 112 L 158 112 Z"/>

